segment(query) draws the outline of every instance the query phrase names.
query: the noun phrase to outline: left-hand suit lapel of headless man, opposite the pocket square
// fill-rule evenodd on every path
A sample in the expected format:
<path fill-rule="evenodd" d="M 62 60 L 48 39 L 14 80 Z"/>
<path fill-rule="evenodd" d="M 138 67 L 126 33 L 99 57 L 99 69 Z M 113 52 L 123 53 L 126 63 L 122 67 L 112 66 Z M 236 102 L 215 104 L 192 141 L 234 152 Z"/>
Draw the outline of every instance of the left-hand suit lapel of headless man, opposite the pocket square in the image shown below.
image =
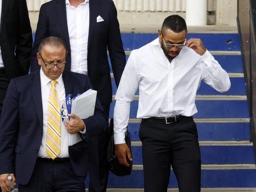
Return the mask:
<path fill-rule="evenodd" d="M 59 19 L 59 24 L 61 26 L 61 30 L 63 31 L 65 41 L 67 42 L 68 51 L 70 52 L 69 29 L 67 24 L 67 11 L 66 11 L 65 0 L 56 0 L 55 8 L 56 8 L 57 17 Z"/>

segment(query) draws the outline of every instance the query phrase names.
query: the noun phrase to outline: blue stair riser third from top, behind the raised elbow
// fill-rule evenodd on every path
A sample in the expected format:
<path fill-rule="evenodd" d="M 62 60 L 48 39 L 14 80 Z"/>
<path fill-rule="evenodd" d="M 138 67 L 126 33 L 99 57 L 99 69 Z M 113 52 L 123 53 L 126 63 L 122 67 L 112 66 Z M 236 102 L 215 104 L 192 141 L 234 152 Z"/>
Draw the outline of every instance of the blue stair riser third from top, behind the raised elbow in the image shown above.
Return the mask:
<path fill-rule="evenodd" d="M 246 95 L 245 89 L 245 80 L 244 78 L 230 78 L 231 87 L 227 92 L 218 92 L 217 90 L 213 89 L 203 81 L 199 89 L 197 90 L 198 95 Z M 112 92 L 113 95 L 117 93 L 117 86 L 115 85 L 115 79 L 111 78 L 112 83 Z M 139 94 L 139 90 L 135 93 L 135 95 Z"/>

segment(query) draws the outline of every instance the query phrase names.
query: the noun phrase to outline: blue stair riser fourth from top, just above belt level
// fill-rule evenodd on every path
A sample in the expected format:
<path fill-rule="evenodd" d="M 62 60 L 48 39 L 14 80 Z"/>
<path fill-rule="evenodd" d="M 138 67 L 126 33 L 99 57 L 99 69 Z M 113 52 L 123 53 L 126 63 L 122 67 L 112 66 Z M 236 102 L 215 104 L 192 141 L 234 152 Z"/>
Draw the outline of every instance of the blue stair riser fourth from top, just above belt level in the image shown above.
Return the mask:
<path fill-rule="evenodd" d="M 131 102 L 130 118 L 136 118 L 137 100 Z M 196 100 L 197 111 L 194 118 L 248 118 L 248 106 L 245 100 Z M 109 117 L 113 117 L 115 101 L 110 105 Z"/>

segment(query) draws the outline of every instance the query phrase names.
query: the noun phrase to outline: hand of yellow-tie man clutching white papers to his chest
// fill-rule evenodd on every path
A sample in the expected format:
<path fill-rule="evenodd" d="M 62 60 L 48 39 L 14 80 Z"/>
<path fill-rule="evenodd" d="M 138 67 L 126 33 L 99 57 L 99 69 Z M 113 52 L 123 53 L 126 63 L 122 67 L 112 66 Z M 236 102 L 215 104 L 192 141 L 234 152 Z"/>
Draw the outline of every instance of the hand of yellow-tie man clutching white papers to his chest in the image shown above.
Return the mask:
<path fill-rule="evenodd" d="M 68 133 L 77 133 L 84 129 L 84 122 L 82 119 L 80 119 L 76 114 L 71 113 L 69 114 L 69 117 L 72 118 L 70 121 L 69 119 L 65 122 L 65 127 L 67 129 Z"/>

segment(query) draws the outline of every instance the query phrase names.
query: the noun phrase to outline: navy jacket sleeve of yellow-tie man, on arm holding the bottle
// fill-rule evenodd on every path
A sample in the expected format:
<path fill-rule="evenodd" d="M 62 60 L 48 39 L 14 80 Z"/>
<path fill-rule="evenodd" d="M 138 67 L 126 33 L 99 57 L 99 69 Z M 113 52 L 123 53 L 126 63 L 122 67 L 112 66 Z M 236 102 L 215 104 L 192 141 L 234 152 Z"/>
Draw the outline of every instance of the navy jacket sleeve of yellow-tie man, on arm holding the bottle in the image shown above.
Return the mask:
<path fill-rule="evenodd" d="M 0 174 L 14 173 L 14 151 L 19 128 L 19 94 L 12 79 L 7 89 L 0 120 Z"/>

